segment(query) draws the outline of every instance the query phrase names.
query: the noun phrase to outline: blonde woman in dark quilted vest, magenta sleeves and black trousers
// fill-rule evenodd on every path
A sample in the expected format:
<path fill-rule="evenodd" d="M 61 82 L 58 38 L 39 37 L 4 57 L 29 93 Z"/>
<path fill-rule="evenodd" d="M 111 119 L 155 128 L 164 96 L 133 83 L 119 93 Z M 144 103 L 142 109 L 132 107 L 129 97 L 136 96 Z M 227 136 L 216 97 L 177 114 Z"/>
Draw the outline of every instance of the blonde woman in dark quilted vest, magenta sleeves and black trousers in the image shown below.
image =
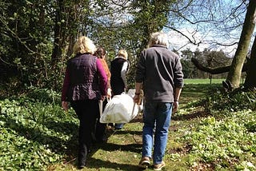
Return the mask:
<path fill-rule="evenodd" d="M 92 144 L 98 101 L 106 96 L 107 78 L 101 62 L 93 55 L 96 47 L 90 38 L 78 38 L 73 50 L 75 56 L 67 62 L 62 85 L 62 108 L 67 110 L 69 101 L 78 115 L 78 168 L 82 169 Z"/>

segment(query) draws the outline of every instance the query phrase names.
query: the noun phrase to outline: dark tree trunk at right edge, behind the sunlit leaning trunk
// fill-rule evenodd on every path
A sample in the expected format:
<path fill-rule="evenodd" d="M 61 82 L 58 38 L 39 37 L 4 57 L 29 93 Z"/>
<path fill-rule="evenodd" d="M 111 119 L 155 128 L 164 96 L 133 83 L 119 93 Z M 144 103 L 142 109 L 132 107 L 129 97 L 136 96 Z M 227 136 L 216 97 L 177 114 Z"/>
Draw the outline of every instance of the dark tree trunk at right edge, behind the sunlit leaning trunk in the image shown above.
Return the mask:
<path fill-rule="evenodd" d="M 248 71 L 244 86 L 246 89 L 256 89 L 256 36 L 254 38 L 254 45 L 251 49 Z"/>

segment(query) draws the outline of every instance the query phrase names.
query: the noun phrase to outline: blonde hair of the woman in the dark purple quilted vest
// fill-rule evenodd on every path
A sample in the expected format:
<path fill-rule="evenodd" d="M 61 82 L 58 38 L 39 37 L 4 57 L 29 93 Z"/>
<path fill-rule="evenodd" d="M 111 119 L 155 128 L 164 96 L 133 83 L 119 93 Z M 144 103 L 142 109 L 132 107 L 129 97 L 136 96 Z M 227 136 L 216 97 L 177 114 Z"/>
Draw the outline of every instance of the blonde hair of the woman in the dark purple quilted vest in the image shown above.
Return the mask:
<path fill-rule="evenodd" d="M 74 54 L 94 54 L 96 51 L 96 46 L 94 42 L 87 38 L 86 36 L 81 36 L 78 38 L 78 41 L 74 44 L 73 53 Z"/>

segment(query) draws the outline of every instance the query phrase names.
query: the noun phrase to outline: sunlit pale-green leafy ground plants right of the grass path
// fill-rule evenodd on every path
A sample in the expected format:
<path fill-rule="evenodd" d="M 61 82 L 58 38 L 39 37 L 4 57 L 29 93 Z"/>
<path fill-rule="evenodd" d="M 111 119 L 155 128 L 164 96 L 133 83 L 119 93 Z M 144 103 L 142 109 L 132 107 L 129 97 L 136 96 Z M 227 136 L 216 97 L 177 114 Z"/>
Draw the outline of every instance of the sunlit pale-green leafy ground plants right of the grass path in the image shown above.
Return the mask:
<path fill-rule="evenodd" d="M 215 114 L 219 118 L 220 113 Z M 191 167 L 208 163 L 215 170 L 255 170 L 256 113 L 244 110 L 223 114 L 219 120 L 215 118 L 203 118 L 183 137 L 191 147 L 188 154 Z"/>

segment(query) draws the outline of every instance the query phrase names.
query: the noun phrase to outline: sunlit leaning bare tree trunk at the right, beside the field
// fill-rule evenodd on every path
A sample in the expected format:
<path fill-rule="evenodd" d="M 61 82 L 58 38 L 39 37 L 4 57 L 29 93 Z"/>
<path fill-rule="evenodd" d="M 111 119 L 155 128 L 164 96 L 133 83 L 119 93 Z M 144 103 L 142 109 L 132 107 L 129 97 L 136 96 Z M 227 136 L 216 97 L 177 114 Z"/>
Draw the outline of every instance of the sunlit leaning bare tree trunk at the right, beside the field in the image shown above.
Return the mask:
<path fill-rule="evenodd" d="M 249 6 L 247 7 L 245 22 L 242 27 L 242 34 L 238 43 L 238 50 L 234 54 L 230 72 L 226 78 L 226 82 L 231 86 L 229 87 L 230 90 L 238 88 L 240 84 L 242 66 L 245 62 L 246 54 L 250 45 L 250 39 L 254 32 L 255 11 L 256 3 L 254 0 L 250 0 Z"/>

